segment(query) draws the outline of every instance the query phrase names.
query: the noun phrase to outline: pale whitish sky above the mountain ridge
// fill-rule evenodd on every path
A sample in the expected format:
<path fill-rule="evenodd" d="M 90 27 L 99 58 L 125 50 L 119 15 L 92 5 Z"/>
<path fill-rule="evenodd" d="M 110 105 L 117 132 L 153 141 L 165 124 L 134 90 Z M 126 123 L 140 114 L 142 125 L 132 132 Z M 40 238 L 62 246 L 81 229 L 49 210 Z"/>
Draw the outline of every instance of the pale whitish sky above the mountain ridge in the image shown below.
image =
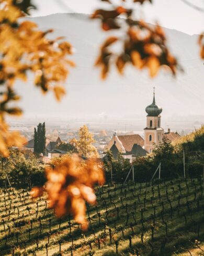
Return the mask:
<path fill-rule="evenodd" d="M 187 0 L 204 8 L 204 0 Z M 32 16 L 44 16 L 53 13 L 91 13 L 101 7 L 99 0 L 35 0 L 38 6 Z M 153 0 L 139 8 L 139 16 L 148 22 L 158 21 L 161 26 L 177 29 L 187 34 L 199 34 L 204 30 L 204 13 L 183 3 L 182 0 Z"/>

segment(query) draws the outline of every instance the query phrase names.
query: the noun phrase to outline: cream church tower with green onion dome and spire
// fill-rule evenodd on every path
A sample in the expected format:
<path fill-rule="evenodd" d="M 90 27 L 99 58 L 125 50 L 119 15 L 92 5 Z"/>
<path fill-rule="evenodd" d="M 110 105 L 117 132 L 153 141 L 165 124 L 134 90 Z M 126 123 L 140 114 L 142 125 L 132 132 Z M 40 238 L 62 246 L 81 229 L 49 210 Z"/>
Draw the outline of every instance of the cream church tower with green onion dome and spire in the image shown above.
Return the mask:
<path fill-rule="evenodd" d="M 148 115 L 146 116 L 146 128 L 144 128 L 144 149 L 150 153 L 154 148 L 154 143 L 162 142 L 163 129 L 161 128 L 161 113 L 162 108 L 155 103 L 155 93 L 153 102 L 145 109 Z"/>

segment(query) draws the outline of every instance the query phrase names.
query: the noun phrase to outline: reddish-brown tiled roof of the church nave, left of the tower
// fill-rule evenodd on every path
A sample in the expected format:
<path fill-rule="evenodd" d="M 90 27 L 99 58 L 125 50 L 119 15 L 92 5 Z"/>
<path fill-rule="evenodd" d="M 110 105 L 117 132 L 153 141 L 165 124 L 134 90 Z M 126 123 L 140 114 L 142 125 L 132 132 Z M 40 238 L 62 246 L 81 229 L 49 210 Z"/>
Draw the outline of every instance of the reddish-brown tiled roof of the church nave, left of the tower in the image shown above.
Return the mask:
<path fill-rule="evenodd" d="M 122 143 L 122 146 L 126 151 L 131 151 L 134 144 L 138 144 L 141 147 L 144 146 L 144 140 L 139 134 L 132 135 L 118 135 L 119 140 Z"/>

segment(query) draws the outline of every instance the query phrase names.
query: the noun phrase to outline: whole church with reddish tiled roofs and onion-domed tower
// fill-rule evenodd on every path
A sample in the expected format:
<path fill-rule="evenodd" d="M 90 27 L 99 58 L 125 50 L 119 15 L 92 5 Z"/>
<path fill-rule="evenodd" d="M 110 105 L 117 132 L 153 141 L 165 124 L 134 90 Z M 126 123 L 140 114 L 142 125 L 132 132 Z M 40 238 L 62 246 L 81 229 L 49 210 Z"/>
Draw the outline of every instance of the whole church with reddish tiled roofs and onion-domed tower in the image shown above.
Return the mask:
<path fill-rule="evenodd" d="M 177 140 L 180 135 L 176 132 L 164 133 L 161 127 L 161 113 L 162 108 L 156 105 L 155 92 L 153 94 L 153 102 L 145 109 L 146 113 L 146 127 L 144 128 L 144 139 L 139 134 L 132 135 L 116 135 L 112 136 L 111 140 L 104 147 L 104 154 L 108 151 L 112 152 L 114 158 L 117 158 L 118 153 L 125 158 L 130 159 L 130 162 L 137 156 L 146 156 L 151 153 L 155 145 L 162 143 L 163 137 L 173 142 Z"/>

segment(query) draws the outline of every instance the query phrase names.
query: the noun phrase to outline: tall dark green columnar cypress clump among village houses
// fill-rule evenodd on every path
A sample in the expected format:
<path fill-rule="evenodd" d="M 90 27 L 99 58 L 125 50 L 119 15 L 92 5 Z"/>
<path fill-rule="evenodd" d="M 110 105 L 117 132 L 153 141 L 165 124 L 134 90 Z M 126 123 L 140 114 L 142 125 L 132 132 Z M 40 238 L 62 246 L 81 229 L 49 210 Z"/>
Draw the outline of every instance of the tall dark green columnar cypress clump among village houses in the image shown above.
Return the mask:
<path fill-rule="evenodd" d="M 46 124 L 39 123 L 34 129 L 34 152 L 45 153 L 46 150 Z"/>

